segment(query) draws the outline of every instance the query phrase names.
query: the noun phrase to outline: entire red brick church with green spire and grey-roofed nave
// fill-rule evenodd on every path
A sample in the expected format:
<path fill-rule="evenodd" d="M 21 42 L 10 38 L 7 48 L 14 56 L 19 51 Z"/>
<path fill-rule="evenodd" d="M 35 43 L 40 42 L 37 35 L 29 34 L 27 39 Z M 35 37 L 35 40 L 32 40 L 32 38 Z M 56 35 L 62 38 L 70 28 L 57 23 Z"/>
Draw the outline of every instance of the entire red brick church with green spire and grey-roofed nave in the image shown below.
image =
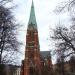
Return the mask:
<path fill-rule="evenodd" d="M 21 75 L 50 75 L 51 71 L 50 51 L 40 51 L 38 28 L 32 1 L 26 33 L 25 59 L 22 61 Z"/>

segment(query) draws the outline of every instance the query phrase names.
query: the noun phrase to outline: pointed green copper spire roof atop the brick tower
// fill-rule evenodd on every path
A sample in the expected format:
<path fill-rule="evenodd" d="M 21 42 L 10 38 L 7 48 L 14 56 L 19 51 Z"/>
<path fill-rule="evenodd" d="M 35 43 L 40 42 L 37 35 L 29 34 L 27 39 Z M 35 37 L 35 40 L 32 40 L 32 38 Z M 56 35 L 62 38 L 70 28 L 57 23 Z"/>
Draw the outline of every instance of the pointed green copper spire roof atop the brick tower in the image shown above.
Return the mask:
<path fill-rule="evenodd" d="M 28 25 L 29 25 L 29 27 L 34 27 L 34 28 L 37 29 L 37 23 L 36 23 L 36 17 L 35 17 L 33 1 L 32 1 L 32 6 L 31 6 L 31 12 L 30 12 L 30 18 L 29 18 Z"/>

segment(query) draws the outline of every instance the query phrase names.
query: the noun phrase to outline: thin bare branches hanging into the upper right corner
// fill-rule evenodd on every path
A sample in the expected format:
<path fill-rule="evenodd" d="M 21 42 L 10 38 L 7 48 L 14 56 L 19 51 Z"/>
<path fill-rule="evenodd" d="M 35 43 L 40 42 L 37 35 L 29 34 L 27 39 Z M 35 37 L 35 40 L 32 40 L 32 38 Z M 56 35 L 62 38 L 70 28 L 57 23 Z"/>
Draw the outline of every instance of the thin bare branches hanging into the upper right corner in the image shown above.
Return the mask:
<path fill-rule="evenodd" d="M 67 11 L 71 11 L 71 9 L 75 8 L 75 0 L 67 0 L 62 1 L 55 9 L 56 12 L 60 13 L 64 11 L 65 9 Z"/>

